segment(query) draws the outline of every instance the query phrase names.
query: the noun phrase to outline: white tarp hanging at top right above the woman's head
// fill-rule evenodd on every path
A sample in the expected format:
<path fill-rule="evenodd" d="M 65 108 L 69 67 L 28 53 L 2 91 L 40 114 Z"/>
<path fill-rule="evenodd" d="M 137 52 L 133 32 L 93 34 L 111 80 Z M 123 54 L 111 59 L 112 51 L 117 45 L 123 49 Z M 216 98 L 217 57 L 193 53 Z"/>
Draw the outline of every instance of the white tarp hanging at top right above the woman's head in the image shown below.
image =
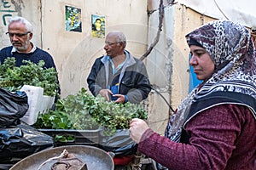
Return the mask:
<path fill-rule="evenodd" d="M 200 14 L 256 27 L 256 0 L 177 0 Z"/>

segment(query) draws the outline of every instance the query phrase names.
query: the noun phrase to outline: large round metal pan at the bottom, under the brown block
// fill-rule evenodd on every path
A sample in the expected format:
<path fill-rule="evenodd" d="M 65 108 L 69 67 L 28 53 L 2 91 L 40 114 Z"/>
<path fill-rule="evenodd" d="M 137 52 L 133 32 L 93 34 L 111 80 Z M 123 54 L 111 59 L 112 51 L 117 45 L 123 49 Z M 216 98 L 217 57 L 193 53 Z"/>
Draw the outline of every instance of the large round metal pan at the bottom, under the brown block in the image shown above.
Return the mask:
<path fill-rule="evenodd" d="M 112 157 L 104 150 L 87 145 L 67 145 L 43 150 L 32 156 L 27 156 L 9 170 L 37 170 L 44 161 L 55 156 L 60 156 L 64 149 L 68 153 L 73 153 L 83 163 L 86 163 L 89 170 L 113 170 L 114 168 Z M 50 167 L 46 167 L 45 170 L 49 170 Z"/>

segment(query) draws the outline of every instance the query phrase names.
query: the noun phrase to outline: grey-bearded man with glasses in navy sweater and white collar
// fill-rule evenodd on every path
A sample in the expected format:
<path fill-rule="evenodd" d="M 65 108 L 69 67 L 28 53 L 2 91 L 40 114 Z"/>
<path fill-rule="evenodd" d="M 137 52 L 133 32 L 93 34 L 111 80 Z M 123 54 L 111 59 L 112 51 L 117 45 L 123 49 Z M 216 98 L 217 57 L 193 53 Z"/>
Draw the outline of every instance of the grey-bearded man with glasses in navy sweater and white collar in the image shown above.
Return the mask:
<path fill-rule="evenodd" d="M 13 57 L 15 58 L 16 66 L 25 65 L 22 62 L 23 60 L 30 60 L 36 64 L 38 64 L 39 60 L 44 60 L 45 68 L 55 68 L 52 56 L 31 42 L 33 31 L 32 24 L 28 20 L 20 16 L 11 18 L 6 35 L 9 36 L 12 46 L 1 49 L 1 64 L 6 58 Z"/>

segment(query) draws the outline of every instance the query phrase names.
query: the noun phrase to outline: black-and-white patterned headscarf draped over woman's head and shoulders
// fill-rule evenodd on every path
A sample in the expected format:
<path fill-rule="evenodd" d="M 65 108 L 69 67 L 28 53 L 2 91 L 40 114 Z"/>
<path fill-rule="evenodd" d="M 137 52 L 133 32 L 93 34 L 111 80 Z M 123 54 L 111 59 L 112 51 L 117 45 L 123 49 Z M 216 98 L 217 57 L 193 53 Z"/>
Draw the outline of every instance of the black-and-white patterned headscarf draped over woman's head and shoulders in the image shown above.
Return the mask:
<path fill-rule="evenodd" d="M 200 88 L 192 90 L 177 107 L 177 112 L 172 115 L 166 127 L 166 137 L 179 142 L 184 122 L 189 112 L 194 110 L 191 105 L 216 92 L 230 93 L 231 103 L 235 104 L 240 95 L 247 96 L 250 99 L 249 104 L 237 104 L 247 105 L 256 119 L 256 51 L 247 28 L 228 20 L 215 20 L 190 32 L 186 38 L 188 44 L 193 39 L 207 50 L 215 65 L 215 71 L 212 77 L 204 80 L 199 85 Z M 232 98 L 237 99 L 234 102 Z M 218 101 L 218 98 L 216 100 L 214 105 L 230 102 Z M 207 108 L 212 106 L 207 105 Z M 196 113 L 207 108 L 201 108 Z"/>

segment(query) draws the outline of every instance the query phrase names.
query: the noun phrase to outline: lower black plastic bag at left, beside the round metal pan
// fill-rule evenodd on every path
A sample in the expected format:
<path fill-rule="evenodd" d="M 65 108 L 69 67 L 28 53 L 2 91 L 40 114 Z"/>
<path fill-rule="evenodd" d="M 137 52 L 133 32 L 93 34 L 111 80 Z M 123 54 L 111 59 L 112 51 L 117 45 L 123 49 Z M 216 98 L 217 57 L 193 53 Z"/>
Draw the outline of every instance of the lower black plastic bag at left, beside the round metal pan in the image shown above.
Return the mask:
<path fill-rule="evenodd" d="M 0 164 L 15 164 L 26 156 L 53 146 L 52 137 L 24 123 L 0 128 Z"/>

